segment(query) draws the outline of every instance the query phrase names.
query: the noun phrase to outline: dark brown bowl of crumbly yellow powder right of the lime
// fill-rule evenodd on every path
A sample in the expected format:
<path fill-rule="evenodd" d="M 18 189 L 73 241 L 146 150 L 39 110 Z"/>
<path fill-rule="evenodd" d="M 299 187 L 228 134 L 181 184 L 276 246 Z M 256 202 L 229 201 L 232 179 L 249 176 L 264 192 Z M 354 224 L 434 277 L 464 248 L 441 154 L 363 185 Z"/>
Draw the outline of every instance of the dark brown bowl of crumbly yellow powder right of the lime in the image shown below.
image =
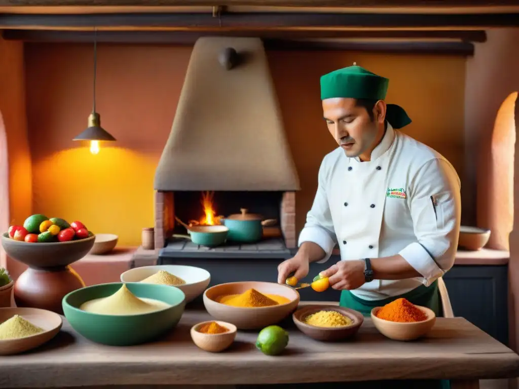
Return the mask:
<path fill-rule="evenodd" d="M 303 334 L 322 341 L 339 341 L 357 333 L 364 316 L 337 305 L 312 304 L 292 314 L 295 325 Z"/>

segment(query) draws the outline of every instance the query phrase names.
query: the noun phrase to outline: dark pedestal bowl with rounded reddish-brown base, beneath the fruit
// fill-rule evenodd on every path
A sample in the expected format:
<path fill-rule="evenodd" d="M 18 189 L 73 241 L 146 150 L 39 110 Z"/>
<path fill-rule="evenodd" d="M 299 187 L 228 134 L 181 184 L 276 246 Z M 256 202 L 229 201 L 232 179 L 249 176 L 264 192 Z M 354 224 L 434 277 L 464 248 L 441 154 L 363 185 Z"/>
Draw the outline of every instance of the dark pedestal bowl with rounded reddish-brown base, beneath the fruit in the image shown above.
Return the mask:
<path fill-rule="evenodd" d="M 40 308 L 63 314 L 61 300 L 85 283 L 70 267 L 92 248 L 95 235 L 68 242 L 31 243 L 2 234 L 6 254 L 25 263 L 25 270 L 15 283 L 17 307 Z"/>

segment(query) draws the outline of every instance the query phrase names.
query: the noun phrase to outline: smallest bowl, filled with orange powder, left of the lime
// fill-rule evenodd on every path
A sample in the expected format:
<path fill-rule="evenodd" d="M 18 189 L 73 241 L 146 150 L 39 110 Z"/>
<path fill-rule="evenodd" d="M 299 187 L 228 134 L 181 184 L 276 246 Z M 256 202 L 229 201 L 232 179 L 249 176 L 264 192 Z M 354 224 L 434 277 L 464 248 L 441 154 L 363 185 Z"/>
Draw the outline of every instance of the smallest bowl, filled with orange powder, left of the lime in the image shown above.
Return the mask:
<path fill-rule="evenodd" d="M 227 322 L 202 322 L 191 327 L 191 339 L 200 349 L 219 353 L 233 344 L 237 330 L 234 324 Z"/>

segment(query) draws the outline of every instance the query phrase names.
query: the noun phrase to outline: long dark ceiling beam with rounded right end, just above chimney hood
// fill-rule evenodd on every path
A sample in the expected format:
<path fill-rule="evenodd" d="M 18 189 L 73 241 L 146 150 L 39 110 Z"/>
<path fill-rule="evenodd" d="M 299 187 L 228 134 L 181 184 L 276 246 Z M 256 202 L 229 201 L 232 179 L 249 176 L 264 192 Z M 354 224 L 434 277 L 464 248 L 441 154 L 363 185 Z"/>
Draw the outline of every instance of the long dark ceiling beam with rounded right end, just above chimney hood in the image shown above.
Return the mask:
<path fill-rule="evenodd" d="M 396 40 L 458 40 L 466 42 L 486 41 L 485 31 L 413 31 L 413 30 L 389 30 L 389 31 L 100 31 L 97 39 L 101 43 L 124 44 L 194 44 L 202 36 L 243 36 L 260 37 L 266 39 L 364 39 L 379 41 Z M 75 31 L 66 33 L 63 31 L 35 31 L 35 30 L 4 30 L 4 39 L 23 41 L 48 41 L 48 42 L 91 42 L 91 31 Z"/>

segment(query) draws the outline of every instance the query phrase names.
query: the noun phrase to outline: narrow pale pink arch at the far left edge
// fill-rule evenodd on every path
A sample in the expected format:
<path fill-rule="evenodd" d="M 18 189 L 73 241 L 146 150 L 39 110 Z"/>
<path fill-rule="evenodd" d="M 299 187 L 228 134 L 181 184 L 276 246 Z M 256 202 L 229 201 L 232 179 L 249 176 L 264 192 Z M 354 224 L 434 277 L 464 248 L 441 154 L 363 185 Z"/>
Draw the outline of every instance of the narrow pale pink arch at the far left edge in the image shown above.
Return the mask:
<path fill-rule="evenodd" d="M 7 133 L 0 112 L 0 232 L 9 228 L 9 163 L 7 159 Z M 0 267 L 7 267 L 7 258 L 0 246 Z"/>

